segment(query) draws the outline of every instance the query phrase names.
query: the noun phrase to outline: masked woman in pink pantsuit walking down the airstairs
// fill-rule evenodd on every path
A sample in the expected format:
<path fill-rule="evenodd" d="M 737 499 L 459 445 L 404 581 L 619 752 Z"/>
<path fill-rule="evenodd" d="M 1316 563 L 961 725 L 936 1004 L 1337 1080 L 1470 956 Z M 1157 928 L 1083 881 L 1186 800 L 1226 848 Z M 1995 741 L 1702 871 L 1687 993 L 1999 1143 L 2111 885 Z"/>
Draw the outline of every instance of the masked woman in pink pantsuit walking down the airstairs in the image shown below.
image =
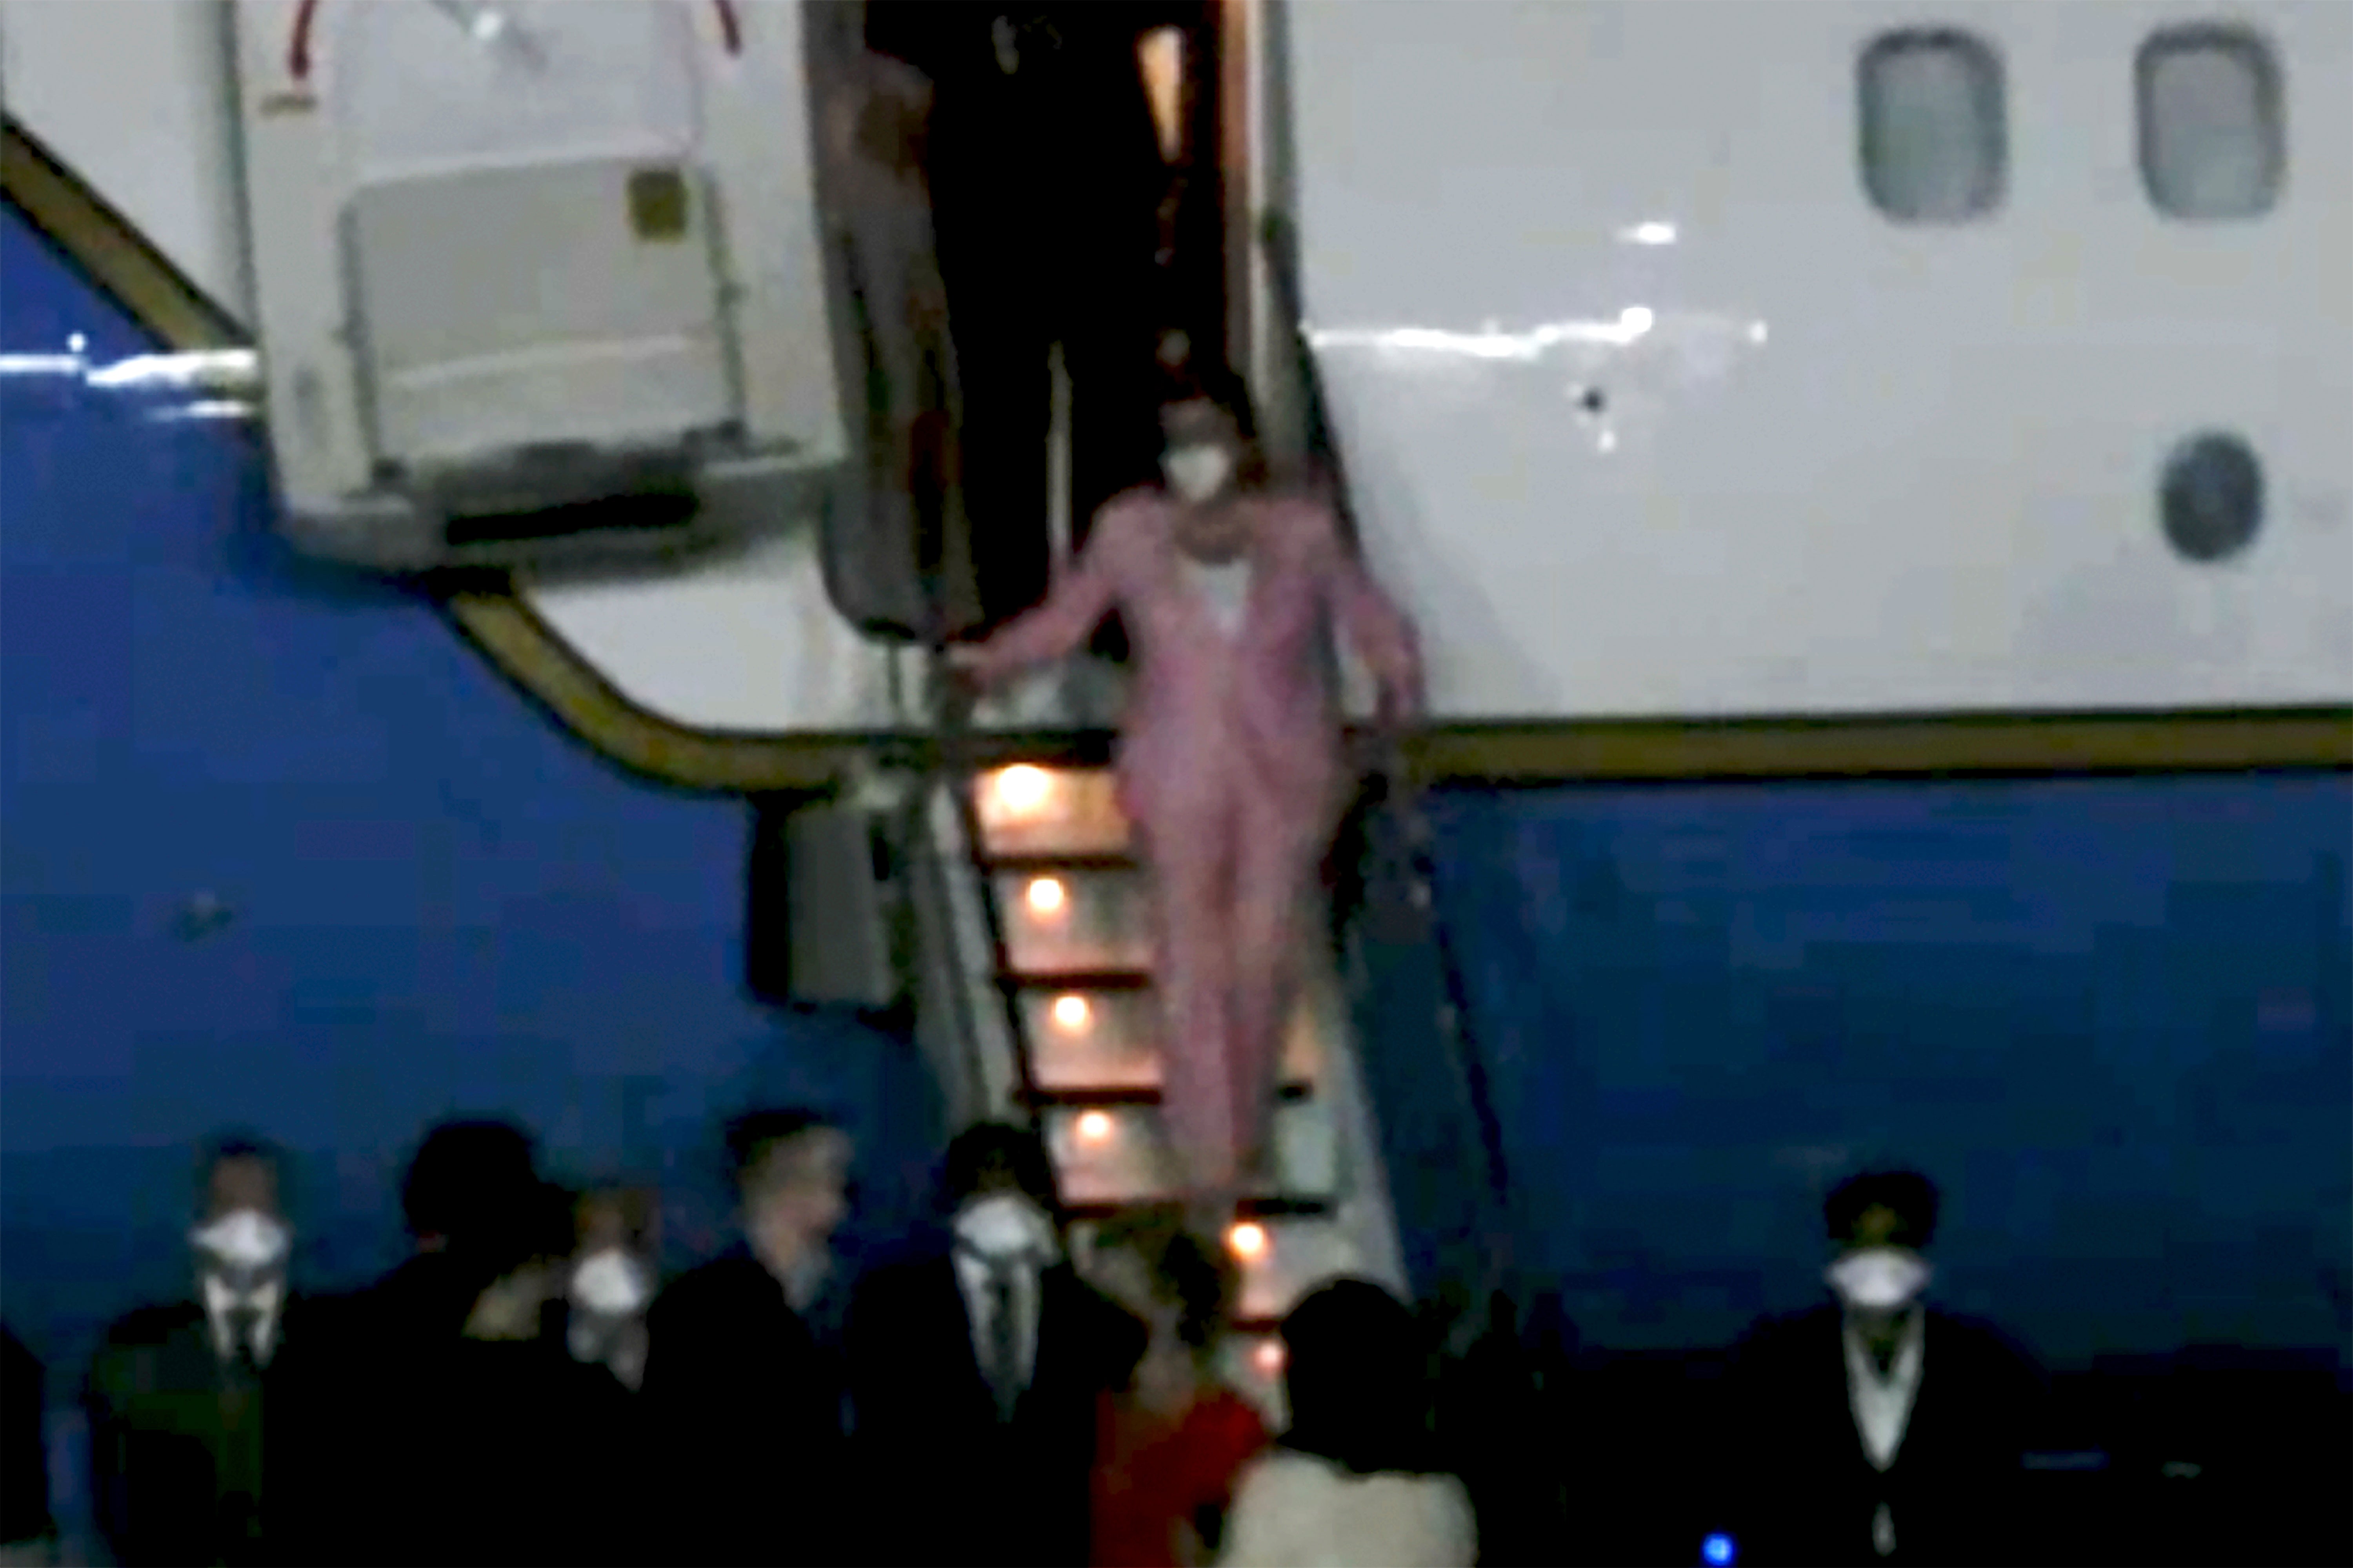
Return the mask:
<path fill-rule="evenodd" d="M 1162 412 L 1167 487 L 1104 506 L 1052 596 L 955 669 L 988 685 L 1059 659 L 1120 610 L 1141 669 L 1118 756 L 1120 805 L 1153 876 L 1162 1104 L 1202 1222 L 1266 1175 L 1306 895 L 1353 784 L 1322 629 L 1379 680 L 1384 725 L 1421 709 L 1412 622 L 1329 509 L 1245 485 L 1233 405 Z"/>

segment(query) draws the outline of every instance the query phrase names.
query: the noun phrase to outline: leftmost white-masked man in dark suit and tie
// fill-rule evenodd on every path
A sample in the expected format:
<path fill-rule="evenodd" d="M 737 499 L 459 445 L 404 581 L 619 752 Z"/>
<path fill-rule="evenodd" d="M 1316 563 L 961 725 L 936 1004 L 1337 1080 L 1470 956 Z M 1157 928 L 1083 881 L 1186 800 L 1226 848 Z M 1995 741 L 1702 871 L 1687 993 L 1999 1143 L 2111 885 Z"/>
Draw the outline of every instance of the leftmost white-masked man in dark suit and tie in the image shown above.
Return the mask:
<path fill-rule="evenodd" d="M 282 1156 L 214 1140 L 200 1163 L 191 1300 L 115 1321 L 85 1391 L 99 1533 L 120 1563 L 299 1561 L 315 1486 L 318 1361 L 287 1290 Z"/>

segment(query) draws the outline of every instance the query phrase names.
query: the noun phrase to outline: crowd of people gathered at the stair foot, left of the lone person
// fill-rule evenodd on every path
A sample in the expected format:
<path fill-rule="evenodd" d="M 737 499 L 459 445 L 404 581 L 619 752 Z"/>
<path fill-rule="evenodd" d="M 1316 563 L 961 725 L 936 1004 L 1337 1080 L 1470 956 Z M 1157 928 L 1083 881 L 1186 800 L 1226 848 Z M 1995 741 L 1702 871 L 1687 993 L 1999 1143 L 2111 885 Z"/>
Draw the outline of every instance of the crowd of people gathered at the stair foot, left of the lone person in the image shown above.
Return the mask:
<path fill-rule="evenodd" d="M 1176 1212 L 1082 1257 L 1035 1132 L 948 1149 L 944 1245 L 840 1295 L 852 1142 L 725 1130 L 741 1238 L 659 1278 L 642 1189 L 548 1182 L 454 1121 L 402 1184 L 409 1257 L 311 1295 L 282 1154 L 207 1147 L 181 1300 L 115 1321 L 85 1382 L 120 1563 L 1471 1563 L 1428 1446 L 1412 1311 L 1334 1281 L 1282 1328 L 1292 1424 L 1221 1382 L 1221 1238 Z M 819 1297 L 847 1311 L 816 1314 Z M 9 1337 L 12 1561 L 56 1561 L 40 1366 Z"/>

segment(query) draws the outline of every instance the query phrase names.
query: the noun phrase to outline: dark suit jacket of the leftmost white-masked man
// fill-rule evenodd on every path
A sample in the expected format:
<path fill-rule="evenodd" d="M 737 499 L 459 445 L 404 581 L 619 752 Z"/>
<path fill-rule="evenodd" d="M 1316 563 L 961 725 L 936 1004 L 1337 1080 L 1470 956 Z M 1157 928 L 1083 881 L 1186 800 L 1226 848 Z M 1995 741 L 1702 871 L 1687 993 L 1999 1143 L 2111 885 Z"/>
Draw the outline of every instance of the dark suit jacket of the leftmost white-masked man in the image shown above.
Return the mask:
<path fill-rule="evenodd" d="M 195 1302 L 120 1318 L 89 1368 L 92 1493 L 122 1563 L 304 1561 L 318 1483 L 311 1304 L 280 1307 L 268 1366 L 221 1356 Z"/>

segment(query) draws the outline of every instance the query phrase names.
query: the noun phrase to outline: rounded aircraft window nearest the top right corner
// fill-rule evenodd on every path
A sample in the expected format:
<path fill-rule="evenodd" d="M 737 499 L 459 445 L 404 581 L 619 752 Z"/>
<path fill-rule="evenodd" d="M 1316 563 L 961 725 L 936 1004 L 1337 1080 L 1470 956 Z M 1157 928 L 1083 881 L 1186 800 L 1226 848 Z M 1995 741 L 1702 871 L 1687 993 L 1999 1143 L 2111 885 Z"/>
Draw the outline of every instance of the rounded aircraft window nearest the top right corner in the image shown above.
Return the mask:
<path fill-rule="evenodd" d="M 2280 68 L 2242 28 L 2165 28 L 2141 45 L 2141 181 L 2165 217 L 2228 224 L 2271 212 L 2287 146 Z"/>

